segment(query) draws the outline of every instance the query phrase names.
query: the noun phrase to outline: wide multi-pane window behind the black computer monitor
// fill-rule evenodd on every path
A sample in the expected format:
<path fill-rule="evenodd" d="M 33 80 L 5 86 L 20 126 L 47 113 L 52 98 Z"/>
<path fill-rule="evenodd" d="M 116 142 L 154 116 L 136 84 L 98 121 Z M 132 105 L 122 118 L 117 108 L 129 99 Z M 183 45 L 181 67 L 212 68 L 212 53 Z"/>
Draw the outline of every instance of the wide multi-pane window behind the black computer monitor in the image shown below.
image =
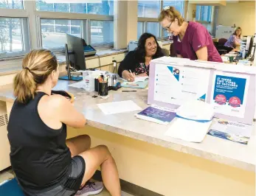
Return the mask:
<path fill-rule="evenodd" d="M 114 44 L 114 0 L 35 0 L 35 5 L 41 18 L 41 45 L 44 48 L 63 50 L 66 33 L 94 46 Z M 91 34 L 88 36 L 87 33 Z"/>

